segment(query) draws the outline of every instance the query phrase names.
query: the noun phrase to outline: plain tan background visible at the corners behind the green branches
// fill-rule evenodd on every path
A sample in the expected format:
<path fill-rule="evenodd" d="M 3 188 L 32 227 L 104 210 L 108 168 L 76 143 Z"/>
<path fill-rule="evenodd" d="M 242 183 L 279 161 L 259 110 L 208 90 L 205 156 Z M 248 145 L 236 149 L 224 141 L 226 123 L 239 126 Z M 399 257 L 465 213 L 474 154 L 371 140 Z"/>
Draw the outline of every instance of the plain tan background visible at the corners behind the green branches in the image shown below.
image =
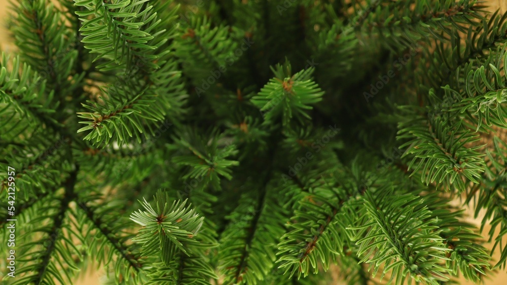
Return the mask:
<path fill-rule="evenodd" d="M 501 8 L 502 11 L 507 11 L 507 0 L 489 0 L 487 1 L 492 6 L 492 9 Z M 0 25 L 0 50 L 5 52 L 14 51 L 13 45 L 10 43 L 10 38 L 8 34 L 8 30 L 5 26 L 5 19 L 8 17 L 8 9 L 7 9 L 8 1 L 0 0 L 0 21 L 2 21 Z M 470 222 L 479 224 L 479 220 L 469 219 Z M 485 229 L 487 232 L 489 228 Z M 495 255 L 494 258 L 498 259 L 498 255 Z M 95 266 L 93 266 L 95 267 Z M 82 278 L 77 283 L 77 285 L 99 285 L 100 284 L 100 271 L 91 270 L 91 272 L 83 272 Z M 461 280 L 460 284 L 474 284 L 472 282 L 467 282 L 465 280 Z M 485 281 L 486 285 L 505 285 L 507 284 L 507 273 L 505 270 L 498 272 L 495 276 L 491 278 L 491 280 Z"/>

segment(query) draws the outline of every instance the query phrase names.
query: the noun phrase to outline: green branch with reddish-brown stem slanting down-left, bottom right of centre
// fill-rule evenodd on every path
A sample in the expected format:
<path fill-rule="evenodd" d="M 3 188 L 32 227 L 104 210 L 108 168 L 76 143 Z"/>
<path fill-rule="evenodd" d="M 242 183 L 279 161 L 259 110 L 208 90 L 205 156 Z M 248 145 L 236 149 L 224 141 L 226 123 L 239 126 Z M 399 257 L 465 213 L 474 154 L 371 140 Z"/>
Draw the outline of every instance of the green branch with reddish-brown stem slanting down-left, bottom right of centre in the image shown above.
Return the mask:
<path fill-rule="evenodd" d="M 327 184 L 325 180 L 320 182 Z M 310 267 L 317 273 L 317 258 L 322 262 L 324 270 L 327 270 L 330 261 L 336 262 L 336 256 L 343 250 L 344 240 L 347 239 L 343 236 L 347 221 L 340 221 L 345 219 L 341 209 L 353 197 L 363 195 L 366 190 L 346 190 L 333 185 L 317 187 L 310 198 L 300 201 L 300 206 L 291 219 L 296 222 L 291 223 L 289 231 L 278 244 L 279 268 L 285 267 L 285 273 L 290 270 L 291 276 L 296 271 L 298 277 L 307 276 Z"/>

